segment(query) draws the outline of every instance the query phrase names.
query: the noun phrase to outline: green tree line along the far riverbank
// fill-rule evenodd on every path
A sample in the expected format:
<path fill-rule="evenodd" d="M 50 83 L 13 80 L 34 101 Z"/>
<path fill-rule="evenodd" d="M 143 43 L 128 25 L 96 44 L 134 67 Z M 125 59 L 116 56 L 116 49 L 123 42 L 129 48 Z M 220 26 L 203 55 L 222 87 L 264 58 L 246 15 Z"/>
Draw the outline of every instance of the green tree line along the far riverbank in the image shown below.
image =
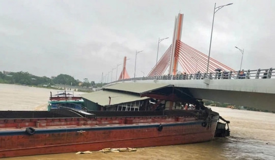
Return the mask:
<path fill-rule="evenodd" d="M 29 72 L 1 72 L 0 71 L 0 83 L 7 84 L 22 84 L 22 85 L 35 85 L 35 86 L 52 86 L 54 84 L 64 84 L 64 85 L 73 85 L 73 86 L 82 86 L 82 87 L 101 87 L 104 84 L 95 83 L 94 81 L 89 81 L 88 78 L 85 78 L 82 81 L 74 79 L 70 75 L 60 74 L 57 77 L 48 78 L 46 76 L 39 77 Z"/>

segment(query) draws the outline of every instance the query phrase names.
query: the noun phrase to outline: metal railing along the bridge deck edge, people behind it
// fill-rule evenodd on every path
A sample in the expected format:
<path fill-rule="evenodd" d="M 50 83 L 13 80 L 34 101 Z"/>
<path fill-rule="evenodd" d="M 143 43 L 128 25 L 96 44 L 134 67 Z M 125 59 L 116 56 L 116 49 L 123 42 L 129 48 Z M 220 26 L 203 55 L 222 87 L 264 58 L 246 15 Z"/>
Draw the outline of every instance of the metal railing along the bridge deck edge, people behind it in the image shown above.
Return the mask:
<path fill-rule="evenodd" d="M 242 71 L 228 71 L 228 72 L 211 72 L 211 73 L 195 73 L 195 74 L 177 74 L 177 75 L 163 75 L 152 77 L 136 77 L 129 79 L 122 79 L 111 83 L 121 81 L 142 81 L 142 80 L 198 80 L 198 79 L 269 79 L 275 78 L 275 69 L 258 69 L 258 70 L 242 70 Z"/>

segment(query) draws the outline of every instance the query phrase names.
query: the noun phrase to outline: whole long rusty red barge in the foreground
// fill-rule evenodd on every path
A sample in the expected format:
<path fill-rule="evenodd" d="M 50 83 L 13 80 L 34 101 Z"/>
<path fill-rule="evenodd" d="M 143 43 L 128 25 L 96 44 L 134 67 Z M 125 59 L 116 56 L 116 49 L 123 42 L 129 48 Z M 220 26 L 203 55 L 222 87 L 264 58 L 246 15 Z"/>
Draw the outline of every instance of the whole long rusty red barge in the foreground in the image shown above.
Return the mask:
<path fill-rule="evenodd" d="M 52 118 L 45 118 L 42 115 L 46 112 L 30 111 L 24 115 L 31 118 L 0 119 L 0 157 L 210 141 L 219 115 L 207 112 L 205 116 L 185 110 L 94 111 L 89 118 L 48 112 L 45 117 Z"/>

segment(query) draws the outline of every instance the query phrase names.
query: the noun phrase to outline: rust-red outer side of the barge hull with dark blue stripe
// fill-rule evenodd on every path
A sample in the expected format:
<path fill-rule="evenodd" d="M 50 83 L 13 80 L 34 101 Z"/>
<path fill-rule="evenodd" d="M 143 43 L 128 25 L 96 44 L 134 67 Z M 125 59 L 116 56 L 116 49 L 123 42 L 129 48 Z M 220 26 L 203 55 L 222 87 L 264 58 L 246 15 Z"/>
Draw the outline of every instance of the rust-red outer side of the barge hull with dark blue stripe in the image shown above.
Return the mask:
<path fill-rule="evenodd" d="M 204 127 L 202 121 L 182 123 L 170 119 L 167 121 L 171 122 L 161 122 L 163 130 L 159 131 L 159 122 L 110 125 L 102 124 L 108 119 L 100 120 L 101 124 L 89 126 L 35 128 L 34 135 L 25 134 L 25 128 L 6 130 L 6 135 L 0 130 L 0 157 L 204 142 L 213 139 L 217 122 L 213 120 L 209 127 Z"/>

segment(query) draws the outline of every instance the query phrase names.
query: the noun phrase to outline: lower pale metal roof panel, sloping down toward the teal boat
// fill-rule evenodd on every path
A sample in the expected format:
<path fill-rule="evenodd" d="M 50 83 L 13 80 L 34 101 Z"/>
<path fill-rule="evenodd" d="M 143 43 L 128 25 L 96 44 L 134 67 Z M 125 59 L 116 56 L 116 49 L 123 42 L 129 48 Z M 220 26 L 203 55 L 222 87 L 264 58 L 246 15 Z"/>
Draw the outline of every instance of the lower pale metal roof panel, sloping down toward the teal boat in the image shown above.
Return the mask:
<path fill-rule="evenodd" d="M 148 99 L 148 97 L 141 98 L 139 95 L 126 94 L 115 91 L 99 90 L 91 93 L 81 94 L 82 98 L 85 98 L 94 103 L 98 103 L 100 106 L 109 106 L 109 97 L 111 97 L 110 105 L 117 105 L 121 103 L 140 101 Z"/>

